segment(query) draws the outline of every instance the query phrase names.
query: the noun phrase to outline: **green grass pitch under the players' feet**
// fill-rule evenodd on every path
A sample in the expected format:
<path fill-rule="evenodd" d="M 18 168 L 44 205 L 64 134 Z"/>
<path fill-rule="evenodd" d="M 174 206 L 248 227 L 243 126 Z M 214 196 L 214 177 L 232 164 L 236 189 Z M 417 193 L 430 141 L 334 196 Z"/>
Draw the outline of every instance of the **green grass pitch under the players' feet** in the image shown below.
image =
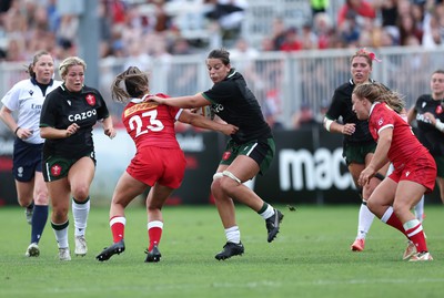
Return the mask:
<path fill-rule="evenodd" d="M 238 207 L 245 254 L 225 261 L 214 255 L 225 243 L 214 206 L 163 209 L 162 259 L 145 264 L 147 216 L 143 207 L 127 212 L 127 250 L 105 263 L 95 255 L 112 243 L 108 208 L 93 207 L 89 253 L 59 261 L 50 225 L 41 255 L 26 258 L 30 226 L 19 207 L 0 208 L 0 297 L 442 297 L 444 235 L 441 205 L 426 205 L 424 228 L 435 260 L 402 260 L 403 236 L 375 219 L 364 253 L 350 251 L 359 206 L 299 206 L 285 217 L 278 238 L 266 243 L 264 222 Z"/>

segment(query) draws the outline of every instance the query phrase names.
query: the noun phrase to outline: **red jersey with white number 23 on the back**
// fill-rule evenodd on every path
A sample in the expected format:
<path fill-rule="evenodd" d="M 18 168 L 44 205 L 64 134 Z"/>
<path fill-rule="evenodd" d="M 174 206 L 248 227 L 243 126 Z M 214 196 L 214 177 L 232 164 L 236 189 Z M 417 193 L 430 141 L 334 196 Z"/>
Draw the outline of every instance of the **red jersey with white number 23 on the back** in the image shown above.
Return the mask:
<path fill-rule="evenodd" d="M 165 94 L 155 95 L 169 97 Z M 133 99 L 122 112 L 122 122 L 138 151 L 145 146 L 180 148 L 174 123 L 181 112 L 182 109 L 179 107 Z"/>

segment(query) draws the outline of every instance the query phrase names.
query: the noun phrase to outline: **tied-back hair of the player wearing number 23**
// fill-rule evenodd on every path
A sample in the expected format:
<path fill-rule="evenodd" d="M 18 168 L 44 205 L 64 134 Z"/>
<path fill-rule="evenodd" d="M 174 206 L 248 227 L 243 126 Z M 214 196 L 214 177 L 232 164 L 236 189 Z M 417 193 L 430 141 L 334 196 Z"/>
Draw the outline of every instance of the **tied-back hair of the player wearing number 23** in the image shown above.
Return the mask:
<path fill-rule="evenodd" d="M 111 84 L 112 99 L 122 103 L 127 103 L 130 99 L 141 97 L 149 91 L 148 74 L 137 66 L 129 66 L 118 74 Z"/>

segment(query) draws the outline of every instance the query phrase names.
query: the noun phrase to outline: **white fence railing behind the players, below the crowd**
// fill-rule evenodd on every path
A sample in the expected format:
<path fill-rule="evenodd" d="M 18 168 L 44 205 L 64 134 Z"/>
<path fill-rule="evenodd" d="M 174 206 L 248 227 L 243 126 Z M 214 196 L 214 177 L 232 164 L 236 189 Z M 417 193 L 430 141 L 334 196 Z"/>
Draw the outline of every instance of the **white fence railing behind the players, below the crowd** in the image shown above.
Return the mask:
<path fill-rule="evenodd" d="M 264 52 L 255 59 L 232 59 L 232 66 L 244 74 L 263 109 L 266 110 L 269 101 L 273 101 L 278 119 L 290 127 L 291 116 L 301 103 L 307 103 L 317 111 L 322 101 L 330 101 L 334 89 L 350 79 L 349 60 L 353 52 L 349 49 L 290 54 Z M 431 73 L 444 69 L 444 48 L 383 48 L 376 51 L 376 55 L 382 62 L 374 62 L 372 78 L 404 94 L 407 106 L 421 94 L 430 93 Z M 0 96 L 17 81 L 27 78 L 24 64 L 0 63 Z M 111 102 L 110 85 L 114 75 L 129 64 L 138 63 L 130 59 L 99 62 L 101 76 L 98 89 L 115 114 L 120 114 L 122 106 Z M 152 93 L 186 95 L 211 88 L 203 54 L 153 59 L 144 71 L 150 72 Z M 1 129 L 4 129 L 2 124 Z"/>

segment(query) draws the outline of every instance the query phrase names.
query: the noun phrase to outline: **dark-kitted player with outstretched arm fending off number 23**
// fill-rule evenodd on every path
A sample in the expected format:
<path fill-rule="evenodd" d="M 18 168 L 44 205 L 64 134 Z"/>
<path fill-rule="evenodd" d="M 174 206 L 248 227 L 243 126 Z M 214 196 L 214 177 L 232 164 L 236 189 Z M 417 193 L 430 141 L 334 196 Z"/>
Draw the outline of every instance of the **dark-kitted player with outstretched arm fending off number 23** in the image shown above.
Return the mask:
<path fill-rule="evenodd" d="M 239 127 L 226 144 L 211 185 L 226 244 L 215 255 L 218 260 L 242 255 L 244 247 L 235 220 L 233 199 L 245 204 L 265 219 L 268 242 L 278 235 L 283 214 L 259 197 L 243 183 L 264 174 L 274 156 L 274 140 L 254 94 L 242 74 L 230 63 L 230 53 L 213 50 L 206 58 L 206 68 L 214 85 L 190 96 L 162 99 L 150 96 L 160 104 L 179 107 L 200 107 L 211 104 L 211 110 L 223 121 Z"/>

